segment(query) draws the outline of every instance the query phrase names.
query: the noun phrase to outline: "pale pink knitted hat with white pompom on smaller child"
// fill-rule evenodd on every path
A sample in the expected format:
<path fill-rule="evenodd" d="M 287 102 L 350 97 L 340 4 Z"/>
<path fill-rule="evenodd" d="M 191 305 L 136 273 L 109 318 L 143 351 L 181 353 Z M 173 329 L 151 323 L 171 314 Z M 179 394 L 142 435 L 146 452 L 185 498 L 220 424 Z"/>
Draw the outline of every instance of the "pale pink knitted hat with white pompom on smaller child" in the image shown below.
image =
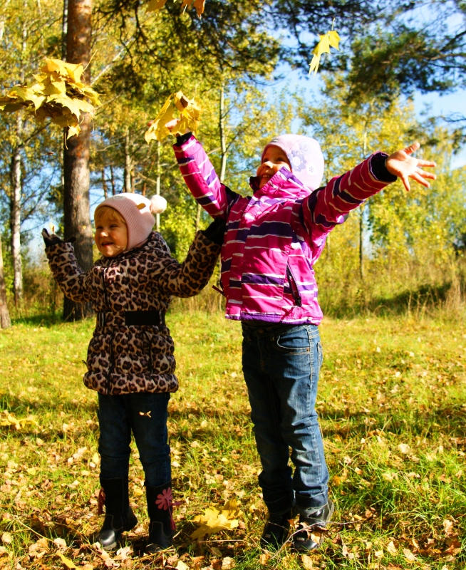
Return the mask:
<path fill-rule="evenodd" d="M 126 249 L 133 249 L 149 237 L 155 224 L 152 214 L 162 214 L 167 207 L 167 200 L 159 195 L 147 199 L 140 194 L 122 192 L 100 202 L 95 211 L 103 206 L 113 208 L 123 216 L 128 227 Z"/>

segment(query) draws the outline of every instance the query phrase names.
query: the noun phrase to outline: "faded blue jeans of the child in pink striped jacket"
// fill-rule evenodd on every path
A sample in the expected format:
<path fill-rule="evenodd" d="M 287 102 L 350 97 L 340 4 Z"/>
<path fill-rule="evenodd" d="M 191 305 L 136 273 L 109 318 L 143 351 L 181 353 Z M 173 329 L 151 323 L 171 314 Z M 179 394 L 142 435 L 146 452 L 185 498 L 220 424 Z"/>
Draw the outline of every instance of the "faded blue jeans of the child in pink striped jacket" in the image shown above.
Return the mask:
<path fill-rule="evenodd" d="M 269 512 L 284 514 L 296 500 L 306 515 L 328 498 L 328 470 L 314 409 L 322 363 L 319 329 L 258 324 L 242 323 L 244 380 L 262 462 L 259 485 Z"/>

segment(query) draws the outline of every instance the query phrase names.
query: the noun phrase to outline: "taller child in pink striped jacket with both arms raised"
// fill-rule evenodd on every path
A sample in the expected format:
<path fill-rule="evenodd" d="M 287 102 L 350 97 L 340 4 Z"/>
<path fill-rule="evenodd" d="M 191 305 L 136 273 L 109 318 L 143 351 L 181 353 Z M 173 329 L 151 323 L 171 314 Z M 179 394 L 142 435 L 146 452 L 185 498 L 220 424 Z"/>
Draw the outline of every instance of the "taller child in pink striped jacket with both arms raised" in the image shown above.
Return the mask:
<path fill-rule="evenodd" d="M 397 177 L 406 190 L 409 177 L 429 186 L 426 179 L 435 175 L 421 167 L 435 163 L 415 159 L 418 147 L 415 143 L 390 156 L 376 152 L 319 187 L 319 143 L 281 135 L 264 148 L 257 175 L 250 179 L 253 195 L 242 197 L 219 181 L 191 133 L 174 145 L 192 195 L 212 217 L 227 221 L 222 288 L 227 318 L 242 321 L 244 380 L 262 461 L 259 485 L 269 509 L 262 546 L 283 544 L 297 511 L 294 547 L 315 549 L 319 545 L 311 530 L 325 528 L 333 514 L 314 409 L 322 362 L 314 263 L 333 227 Z"/>

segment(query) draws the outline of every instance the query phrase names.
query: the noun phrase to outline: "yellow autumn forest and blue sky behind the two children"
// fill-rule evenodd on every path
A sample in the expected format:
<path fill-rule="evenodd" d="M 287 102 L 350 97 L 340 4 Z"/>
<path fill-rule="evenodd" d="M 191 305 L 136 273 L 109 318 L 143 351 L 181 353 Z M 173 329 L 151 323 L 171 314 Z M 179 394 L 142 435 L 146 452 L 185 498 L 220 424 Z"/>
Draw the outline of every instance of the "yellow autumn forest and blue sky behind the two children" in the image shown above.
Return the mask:
<path fill-rule="evenodd" d="M 397 182 L 335 229 L 316 265 L 321 304 L 326 314 L 340 316 L 462 306 L 466 169 L 452 167 L 452 158 L 465 140 L 465 117 L 420 120 L 412 98 L 464 87 L 464 3 L 207 0 L 198 19 L 193 9 L 180 11 L 179 2 L 146 13 L 138 0 L 70 1 L 92 10 L 87 71 L 103 100 L 89 135 L 89 219 L 103 197 L 123 191 L 150 196 L 158 186 L 169 204 L 160 232 L 180 260 L 195 231 L 209 223 L 182 181 L 172 141 L 144 140 L 147 121 L 180 88 L 202 104 L 197 136 L 217 172 L 244 194 L 251 192 L 249 175 L 262 147 L 279 133 L 319 140 L 325 181 L 375 150 L 419 140 L 423 157 L 437 162 L 437 180 L 429 189 L 415 185 L 410 194 Z M 321 95 L 279 81 L 285 68 L 306 75 L 317 34 L 333 19 L 341 51 L 323 58 Z M 0 6 L 5 93 L 31 78 L 44 58 L 66 59 L 67 26 L 68 0 Z M 21 113 L 1 113 L 0 125 L 8 308 L 13 318 L 60 318 L 62 296 L 31 244 L 51 220 L 63 234 L 63 131 Z M 216 295 L 206 290 L 191 302 L 214 310 Z"/>

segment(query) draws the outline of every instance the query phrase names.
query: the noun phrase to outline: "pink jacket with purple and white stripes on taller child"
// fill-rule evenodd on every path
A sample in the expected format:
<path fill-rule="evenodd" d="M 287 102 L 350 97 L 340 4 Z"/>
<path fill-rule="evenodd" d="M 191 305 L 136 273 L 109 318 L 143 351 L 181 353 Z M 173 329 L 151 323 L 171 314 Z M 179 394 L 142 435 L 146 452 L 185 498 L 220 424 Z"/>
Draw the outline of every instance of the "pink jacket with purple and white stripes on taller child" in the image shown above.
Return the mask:
<path fill-rule="evenodd" d="M 319 324 L 314 263 L 345 214 L 396 180 L 385 169 L 387 155 L 371 155 L 314 192 L 282 168 L 260 190 L 252 177 L 254 195 L 242 197 L 220 183 L 194 136 L 173 148 L 197 202 L 227 220 L 221 254 L 227 318 Z"/>

